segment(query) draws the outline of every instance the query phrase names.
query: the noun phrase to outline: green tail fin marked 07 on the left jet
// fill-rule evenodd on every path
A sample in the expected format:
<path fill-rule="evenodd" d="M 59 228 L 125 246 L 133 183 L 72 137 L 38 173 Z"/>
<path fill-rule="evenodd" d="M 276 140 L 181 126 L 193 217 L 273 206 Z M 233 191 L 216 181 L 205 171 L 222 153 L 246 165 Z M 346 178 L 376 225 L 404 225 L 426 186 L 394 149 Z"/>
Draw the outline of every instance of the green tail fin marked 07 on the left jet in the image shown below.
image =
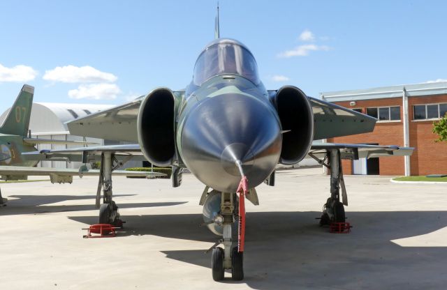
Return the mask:
<path fill-rule="evenodd" d="M 3 121 L 3 125 L 1 125 L 0 133 L 20 136 L 28 135 L 33 96 L 34 86 L 24 84 L 13 107 L 11 107 L 8 116 L 6 116 L 5 121 Z"/>

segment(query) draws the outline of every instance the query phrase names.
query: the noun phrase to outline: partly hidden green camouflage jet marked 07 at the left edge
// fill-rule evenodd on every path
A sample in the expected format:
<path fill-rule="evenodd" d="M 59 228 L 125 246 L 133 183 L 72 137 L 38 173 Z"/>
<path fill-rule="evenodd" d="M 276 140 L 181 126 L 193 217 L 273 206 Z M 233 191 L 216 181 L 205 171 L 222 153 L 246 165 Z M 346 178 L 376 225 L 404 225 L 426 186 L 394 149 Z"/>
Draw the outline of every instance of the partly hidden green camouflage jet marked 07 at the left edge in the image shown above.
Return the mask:
<path fill-rule="evenodd" d="M 20 180 L 27 179 L 27 176 L 50 176 L 52 183 L 71 183 L 73 176 L 98 176 L 100 170 L 91 170 L 82 166 L 80 169 L 62 169 L 62 168 L 45 168 L 36 167 L 39 161 L 45 159 L 44 155 L 22 153 L 35 152 L 35 144 L 75 144 L 87 145 L 89 142 L 77 142 L 67 140 L 54 139 L 38 139 L 29 136 L 29 119 L 31 116 L 31 106 L 34 98 L 34 87 L 25 84 L 20 90 L 13 107 L 11 107 L 8 116 L 0 126 L 0 175 L 3 180 Z M 137 153 L 140 153 L 138 150 Z M 130 152 L 126 152 L 126 156 L 131 156 Z M 71 156 L 76 158 L 76 156 Z M 128 158 L 129 159 L 129 158 Z M 64 156 L 53 158 L 53 160 L 66 160 Z M 78 158 L 80 160 L 80 158 Z M 122 171 L 113 172 L 116 175 L 124 176 L 149 176 L 163 175 L 156 173 L 138 172 L 138 171 Z M 0 204 L 4 200 L 1 197 Z"/>

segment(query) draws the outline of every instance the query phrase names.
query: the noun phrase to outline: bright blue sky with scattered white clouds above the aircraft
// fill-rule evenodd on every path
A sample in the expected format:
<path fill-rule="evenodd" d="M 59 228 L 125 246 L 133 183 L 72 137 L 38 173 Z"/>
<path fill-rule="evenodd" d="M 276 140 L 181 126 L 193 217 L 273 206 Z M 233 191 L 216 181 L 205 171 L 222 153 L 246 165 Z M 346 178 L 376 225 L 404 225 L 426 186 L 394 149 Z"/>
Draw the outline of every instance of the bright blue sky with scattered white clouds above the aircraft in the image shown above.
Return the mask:
<path fill-rule="evenodd" d="M 35 102 L 120 104 L 182 89 L 214 38 L 216 1 L 1 1 L 0 113 Z M 221 37 L 242 41 L 268 89 L 318 97 L 447 79 L 447 1 L 221 0 Z"/>

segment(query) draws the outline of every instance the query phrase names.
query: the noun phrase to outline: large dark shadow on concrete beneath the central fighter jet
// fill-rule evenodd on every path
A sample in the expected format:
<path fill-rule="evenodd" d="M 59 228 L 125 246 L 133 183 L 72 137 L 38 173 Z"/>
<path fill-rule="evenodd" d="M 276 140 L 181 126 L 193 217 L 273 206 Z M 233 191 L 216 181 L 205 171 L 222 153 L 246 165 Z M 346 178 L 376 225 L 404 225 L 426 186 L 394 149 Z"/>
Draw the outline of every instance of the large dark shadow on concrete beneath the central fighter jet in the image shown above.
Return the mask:
<path fill-rule="evenodd" d="M 349 212 L 350 234 L 318 227 L 317 212 L 247 213 L 245 278 L 254 289 L 444 289 L 444 247 L 401 247 L 390 240 L 447 226 L 446 211 Z M 69 217 L 91 224 L 97 217 Z M 125 216 L 118 236 L 155 235 L 212 243 L 200 214 Z M 164 250 L 175 259 L 210 268 L 203 250 Z M 210 270 L 211 275 L 211 270 Z M 227 277 L 230 275 L 227 274 Z M 380 286 L 380 287 L 379 287 Z M 379 287 L 379 288 L 378 288 Z"/>

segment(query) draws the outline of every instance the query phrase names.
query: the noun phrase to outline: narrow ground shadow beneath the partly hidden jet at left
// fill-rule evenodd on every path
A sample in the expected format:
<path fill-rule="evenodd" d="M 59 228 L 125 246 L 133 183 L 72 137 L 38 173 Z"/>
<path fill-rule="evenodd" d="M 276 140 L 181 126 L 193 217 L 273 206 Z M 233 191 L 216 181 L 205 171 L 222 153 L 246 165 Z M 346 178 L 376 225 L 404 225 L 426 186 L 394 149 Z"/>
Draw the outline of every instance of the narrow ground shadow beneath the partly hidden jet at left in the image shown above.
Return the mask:
<path fill-rule="evenodd" d="M 131 197 L 136 194 L 114 194 L 114 197 Z M 92 211 L 95 195 L 10 195 L 16 199 L 8 200 L 7 206 L 0 208 L 0 215 L 22 215 L 39 213 L 61 213 L 69 211 Z M 90 199 L 91 204 L 51 205 L 61 201 Z M 119 208 L 147 208 L 154 206 L 177 206 L 187 201 L 177 202 L 145 202 L 145 203 L 119 203 Z M 97 217 L 95 222 L 97 222 Z"/>

